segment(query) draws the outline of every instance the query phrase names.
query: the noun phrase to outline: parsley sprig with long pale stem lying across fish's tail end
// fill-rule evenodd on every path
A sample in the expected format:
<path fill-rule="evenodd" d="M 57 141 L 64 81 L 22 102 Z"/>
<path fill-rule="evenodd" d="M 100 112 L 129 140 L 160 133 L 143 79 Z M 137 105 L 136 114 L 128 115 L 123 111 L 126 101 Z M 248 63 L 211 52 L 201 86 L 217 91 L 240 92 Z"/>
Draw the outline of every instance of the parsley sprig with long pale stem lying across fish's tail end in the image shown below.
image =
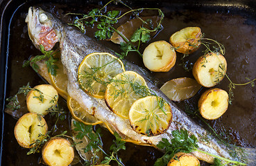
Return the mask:
<path fill-rule="evenodd" d="M 182 151 L 184 153 L 191 153 L 192 151 L 200 151 L 203 154 L 207 154 L 210 156 L 213 156 L 214 158 L 214 165 L 219 166 L 221 163 L 221 160 L 225 162 L 224 165 L 228 165 L 232 163 L 233 165 L 246 165 L 245 163 L 241 163 L 239 161 L 235 160 L 230 160 L 228 158 L 223 158 L 221 156 L 217 156 L 214 154 L 210 154 L 207 151 L 202 151 L 198 149 L 197 145 L 197 138 L 194 135 L 189 136 L 189 133 L 187 132 L 186 129 L 180 129 L 180 130 L 175 130 L 171 132 L 173 135 L 173 138 L 171 139 L 171 142 L 167 140 L 167 138 L 162 138 L 162 141 L 160 141 L 157 144 L 157 147 L 159 149 L 162 149 L 165 152 L 164 156 L 162 158 L 158 158 L 157 161 L 155 162 L 154 166 L 161 166 L 161 165 L 167 165 L 169 160 L 173 158 L 174 154 Z"/>

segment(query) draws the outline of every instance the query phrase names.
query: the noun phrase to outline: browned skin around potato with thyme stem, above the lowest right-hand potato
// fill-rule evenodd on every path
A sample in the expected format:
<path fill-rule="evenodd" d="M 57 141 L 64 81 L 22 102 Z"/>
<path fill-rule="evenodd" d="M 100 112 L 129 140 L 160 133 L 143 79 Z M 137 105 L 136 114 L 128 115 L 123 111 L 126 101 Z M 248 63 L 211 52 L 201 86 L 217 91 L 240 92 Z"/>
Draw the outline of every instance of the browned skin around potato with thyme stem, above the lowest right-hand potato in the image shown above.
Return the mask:
<path fill-rule="evenodd" d="M 215 86 L 216 84 L 219 83 L 219 82 L 216 82 L 215 84 L 212 84 L 211 86 L 206 86 L 206 85 L 203 83 L 203 82 L 204 82 L 204 81 L 203 81 L 203 78 L 200 79 L 200 78 L 198 77 L 198 72 L 200 71 L 200 67 L 203 65 L 204 58 L 207 57 L 207 56 L 210 56 L 210 55 L 212 55 L 212 53 L 208 53 L 207 55 L 203 55 L 203 56 L 199 57 L 199 58 L 196 60 L 194 66 L 193 66 L 193 69 L 192 69 L 192 74 L 194 75 L 194 78 L 196 79 L 196 81 L 198 82 L 198 84 L 200 84 L 200 85 L 202 85 L 202 86 L 205 86 L 205 87 L 207 87 L 207 88 L 211 88 L 211 87 L 213 87 L 213 86 Z M 225 59 L 225 57 L 223 57 L 223 55 L 221 55 L 221 58 Z M 225 65 L 225 70 L 224 70 L 224 72 L 226 73 L 226 71 L 227 71 L 227 62 L 226 62 L 226 61 L 225 61 L 224 65 Z M 223 78 L 224 78 L 224 77 L 222 77 L 221 80 L 223 80 Z M 219 81 L 221 81 L 221 80 L 219 80 Z"/>

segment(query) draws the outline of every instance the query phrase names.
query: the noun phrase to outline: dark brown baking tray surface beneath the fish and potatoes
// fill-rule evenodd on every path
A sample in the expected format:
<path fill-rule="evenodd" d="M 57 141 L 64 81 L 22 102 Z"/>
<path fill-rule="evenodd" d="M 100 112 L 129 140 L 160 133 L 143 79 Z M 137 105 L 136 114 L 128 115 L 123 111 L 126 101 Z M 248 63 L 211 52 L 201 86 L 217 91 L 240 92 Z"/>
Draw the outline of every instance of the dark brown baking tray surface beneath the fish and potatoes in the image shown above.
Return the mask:
<path fill-rule="evenodd" d="M 17 120 L 3 113 L 5 100 L 17 93 L 20 86 L 30 82 L 32 86 L 44 83 L 31 69 L 22 68 L 24 59 L 31 55 L 39 55 L 28 38 L 24 19 L 29 6 L 43 6 L 54 15 L 60 17 L 67 10 L 89 10 L 106 1 L 0 1 L 1 10 L 1 70 L 0 70 L 0 107 L 1 107 L 1 163 L 0 165 L 40 165 L 40 154 L 26 156 L 27 149 L 19 147 L 13 129 Z M 163 39 L 186 26 L 199 26 L 206 37 L 216 39 L 226 48 L 225 57 L 228 61 L 228 75 L 234 82 L 246 82 L 245 77 L 256 77 L 256 2 L 255 1 L 126 1 L 134 7 L 161 8 L 165 14 L 164 29 L 151 42 Z M 68 5 L 67 5 L 68 4 Z M 64 21 L 69 21 L 64 20 Z M 87 33 L 92 37 L 93 33 Z M 119 48 L 111 42 L 100 42 L 113 50 Z M 142 46 L 142 51 L 147 44 Z M 189 57 L 195 62 L 200 51 Z M 179 63 L 179 54 L 177 63 Z M 128 60 L 143 66 L 137 55 L 129 55 Z M 151 73 L 155 79 L 161 80 L 161 86 L 167 80 L 176 77 L 192 77 L 176 65 L 168 73 Z M 219 88 L 228 91 L 228 80 L 224 79 Z M 196 103 L 206 89 L 185 102 L 176 104 L 185 109 L 188 103 Z M 207 121 L 225 139 L 241 146 L 256 147 L 256 101 L 255 87 L 237 86 L 234 89 L 235 100 L 228 111 L 218 120 Z M 65 101 L 63 101 L 65 102 Z M 189 107 L 193 107 L 188 104 Z M 192 117 L 193 118 L 193 117 Z M 198 124 L 203 125 L 196 119 Z M 65 127 L 64 127 L 65 128 Z M 207 128 L 207 127 L 206 127 Z M 108 131 L 105 134 L 111 136 Z M 123 155 L 126 165 L 153 165 L 153 161 L 162 154 L 151 147 L 140 147 L 128 144 L 128 153 Z"/>

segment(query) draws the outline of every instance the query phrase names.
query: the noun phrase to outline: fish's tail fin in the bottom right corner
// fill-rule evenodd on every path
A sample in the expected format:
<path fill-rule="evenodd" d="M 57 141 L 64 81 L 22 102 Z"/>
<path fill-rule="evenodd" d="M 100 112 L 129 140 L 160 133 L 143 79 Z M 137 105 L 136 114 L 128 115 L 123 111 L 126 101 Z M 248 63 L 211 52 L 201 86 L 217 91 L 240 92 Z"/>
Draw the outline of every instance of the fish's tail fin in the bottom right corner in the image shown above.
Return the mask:
<path fill-rule="evenodd" d="M 237 147 L 237 158 L 248 166 L 256 165 L 256 148 L 251 147 Z"/>

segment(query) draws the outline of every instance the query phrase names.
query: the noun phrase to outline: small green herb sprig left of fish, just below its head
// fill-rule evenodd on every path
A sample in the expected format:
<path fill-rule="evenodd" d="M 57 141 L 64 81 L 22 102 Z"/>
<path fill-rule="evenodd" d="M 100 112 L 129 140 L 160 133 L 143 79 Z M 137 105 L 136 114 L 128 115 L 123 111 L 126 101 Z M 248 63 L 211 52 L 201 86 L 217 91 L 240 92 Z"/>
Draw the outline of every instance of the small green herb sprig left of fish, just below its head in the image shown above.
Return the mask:
<path fill-rule="evenodd" d="M 36 62 L 45 59 L 45 63 L 48 69 L 48 72 L 51 73 L 51 75 L 56 76 L 56 69 L 58 69 L 58 66 L 56 64 L 54 64 L 55 62 L 57 62 L 59 59 L 54 57 L 54 53 L 53 50 L 44 50 L 44 46 L 40 45 L 40 51 L 44 54 L 44 55 L 37 55 L 35 57 L 33 57 L 33 59 L 30 59 L 26 62 L 24 62 L 24 64 L 22 65 L 23 67 L 25 66 L 29 66 L 29 64 L 31 64 L 31 67 L 34 69 L 35 72 L 38 71 L 39 66 L 36 64 Z"/>

